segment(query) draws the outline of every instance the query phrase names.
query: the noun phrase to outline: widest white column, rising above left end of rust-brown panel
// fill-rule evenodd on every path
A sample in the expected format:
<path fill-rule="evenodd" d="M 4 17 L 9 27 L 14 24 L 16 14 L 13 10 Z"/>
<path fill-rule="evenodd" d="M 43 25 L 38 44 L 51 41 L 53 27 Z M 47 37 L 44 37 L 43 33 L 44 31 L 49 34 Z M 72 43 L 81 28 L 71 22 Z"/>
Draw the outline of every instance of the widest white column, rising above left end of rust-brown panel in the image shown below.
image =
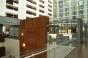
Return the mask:
<path fill-rule="evenodd" d="M 26 0 L 19 0 L 18 19 L 26 19 Z"/>

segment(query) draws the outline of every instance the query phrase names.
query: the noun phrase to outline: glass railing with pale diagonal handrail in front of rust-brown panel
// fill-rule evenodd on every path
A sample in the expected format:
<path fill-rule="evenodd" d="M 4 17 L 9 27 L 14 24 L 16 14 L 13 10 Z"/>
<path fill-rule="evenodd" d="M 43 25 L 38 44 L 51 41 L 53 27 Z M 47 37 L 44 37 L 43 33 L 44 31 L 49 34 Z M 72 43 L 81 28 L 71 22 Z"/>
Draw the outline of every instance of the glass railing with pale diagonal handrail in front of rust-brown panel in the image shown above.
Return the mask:
<path fill-rule="evenodd" d="M 76 47 L 76 38 L 72 39 L 52 39 L 48 41 L 47 48 L 27 53 L 21 56 L 21 58 L 64 58 Z M 28 52 L 28 51 L 27 51 Z"/>

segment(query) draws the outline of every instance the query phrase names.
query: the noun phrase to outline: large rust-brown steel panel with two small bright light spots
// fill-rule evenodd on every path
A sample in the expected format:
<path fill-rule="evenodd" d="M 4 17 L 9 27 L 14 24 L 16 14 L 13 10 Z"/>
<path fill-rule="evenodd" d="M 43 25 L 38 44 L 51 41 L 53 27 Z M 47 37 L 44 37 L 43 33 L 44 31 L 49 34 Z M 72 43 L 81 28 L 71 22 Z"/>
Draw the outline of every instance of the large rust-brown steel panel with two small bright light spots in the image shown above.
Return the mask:
<path fill-rule="evenodd" d="M 49 25 L 49 18 L 46 16 L 21 21 L 20 23 L 21 55 L 25 54 L 23 53 L 24 51 L 26 51 L 26 53 L 33 53 L 35 51 L 47 48 L 48 25 Z M 25 47 L 23 47 L 23 44 L 25 45 Z M 37 58 L 37 56 L 34 58 Z M 38 56 L 38 58 L 41 58 L 41 56 Z M 46 56 L 44 58 L 46 58 Z"/>

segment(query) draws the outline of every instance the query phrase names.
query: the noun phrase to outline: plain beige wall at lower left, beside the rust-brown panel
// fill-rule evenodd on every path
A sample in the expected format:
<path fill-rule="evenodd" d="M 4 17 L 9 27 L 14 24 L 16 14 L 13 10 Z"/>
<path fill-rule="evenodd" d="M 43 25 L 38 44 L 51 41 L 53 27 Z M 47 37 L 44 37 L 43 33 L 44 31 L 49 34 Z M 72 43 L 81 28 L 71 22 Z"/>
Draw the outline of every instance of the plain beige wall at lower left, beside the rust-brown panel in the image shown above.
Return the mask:
<path fill-rule="evenodd" d="M 6 39 L 5 47 L 6 47 L 6 56 L 11 55 L 11 56 L 15 56 L 16 58 L 20 58 L 19 40 Z"/>

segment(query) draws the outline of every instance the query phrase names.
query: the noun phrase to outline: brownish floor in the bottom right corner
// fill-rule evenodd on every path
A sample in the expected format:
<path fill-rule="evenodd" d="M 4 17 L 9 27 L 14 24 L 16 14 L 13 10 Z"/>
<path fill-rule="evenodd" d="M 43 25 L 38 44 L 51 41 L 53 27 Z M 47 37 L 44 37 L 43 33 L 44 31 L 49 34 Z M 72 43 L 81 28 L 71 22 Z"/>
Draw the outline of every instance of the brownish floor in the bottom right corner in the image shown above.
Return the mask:
<path fill-rule="evenodd" d="M 78 44 L 66 58 L 88 58 L 88 41 Z"/>

